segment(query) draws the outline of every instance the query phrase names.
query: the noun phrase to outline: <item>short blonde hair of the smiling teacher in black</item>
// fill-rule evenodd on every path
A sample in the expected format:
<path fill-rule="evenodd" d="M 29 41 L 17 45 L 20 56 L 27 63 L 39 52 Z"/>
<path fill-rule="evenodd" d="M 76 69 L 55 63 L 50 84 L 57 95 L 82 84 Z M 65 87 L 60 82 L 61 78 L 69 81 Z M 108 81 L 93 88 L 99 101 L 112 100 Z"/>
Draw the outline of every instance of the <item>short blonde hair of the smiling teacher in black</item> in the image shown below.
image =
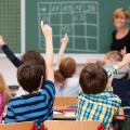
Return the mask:
<path fill-rule="evenodd" d="M 119 9 L 116 9 L 114 14 L 113 14 L 113 22 L 115 18 L 117 17 L 121 17 L 122 15 L 125 15 L 125 17 L 130 21 L 130 12 L 123 8 L 119 8 Z"/>

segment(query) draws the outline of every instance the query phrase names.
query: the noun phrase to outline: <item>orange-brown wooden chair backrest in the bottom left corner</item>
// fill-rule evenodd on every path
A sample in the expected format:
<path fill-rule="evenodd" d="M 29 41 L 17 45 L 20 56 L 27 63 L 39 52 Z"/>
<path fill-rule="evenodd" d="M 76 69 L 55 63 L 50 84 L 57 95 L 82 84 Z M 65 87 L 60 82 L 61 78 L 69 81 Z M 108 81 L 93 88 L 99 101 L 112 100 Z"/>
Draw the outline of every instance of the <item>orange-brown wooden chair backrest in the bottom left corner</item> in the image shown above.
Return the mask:
<path fill-rule="evenodd" d="M 24 121 L 15 123 L 0 123 L 0 130 L 31 130 L 34 128 L 34 122 Z"/>

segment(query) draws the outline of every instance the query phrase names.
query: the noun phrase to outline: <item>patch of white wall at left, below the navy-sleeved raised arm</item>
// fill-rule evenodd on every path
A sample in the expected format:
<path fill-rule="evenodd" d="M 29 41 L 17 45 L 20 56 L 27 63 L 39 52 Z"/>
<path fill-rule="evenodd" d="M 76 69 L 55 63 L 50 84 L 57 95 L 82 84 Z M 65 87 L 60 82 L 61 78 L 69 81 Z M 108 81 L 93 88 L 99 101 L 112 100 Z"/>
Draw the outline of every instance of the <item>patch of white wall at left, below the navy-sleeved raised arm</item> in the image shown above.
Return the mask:
<path fill-rule="evenodd" d="M 3 75 L 8 86 L 17 84 L 16 68 L 4 56 L 0 56 L 0 73 Z"/>

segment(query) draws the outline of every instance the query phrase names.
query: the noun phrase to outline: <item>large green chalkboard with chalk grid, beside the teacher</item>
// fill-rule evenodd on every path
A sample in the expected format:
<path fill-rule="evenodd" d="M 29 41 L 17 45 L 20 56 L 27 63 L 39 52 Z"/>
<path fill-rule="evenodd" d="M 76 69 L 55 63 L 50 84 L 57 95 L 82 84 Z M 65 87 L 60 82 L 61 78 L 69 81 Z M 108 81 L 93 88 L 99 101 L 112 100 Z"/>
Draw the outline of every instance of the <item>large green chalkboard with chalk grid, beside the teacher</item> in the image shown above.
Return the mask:
<path fill-rule="evenodd" d="M 68 53 L 104 53 L 115 29 L 113 12 L 120 6 L 130 9 L 130 0 L 26 0 L 26 49 L 44 52 L 43 20 L 53 28 L 55 52 L 67 32 Z"/>

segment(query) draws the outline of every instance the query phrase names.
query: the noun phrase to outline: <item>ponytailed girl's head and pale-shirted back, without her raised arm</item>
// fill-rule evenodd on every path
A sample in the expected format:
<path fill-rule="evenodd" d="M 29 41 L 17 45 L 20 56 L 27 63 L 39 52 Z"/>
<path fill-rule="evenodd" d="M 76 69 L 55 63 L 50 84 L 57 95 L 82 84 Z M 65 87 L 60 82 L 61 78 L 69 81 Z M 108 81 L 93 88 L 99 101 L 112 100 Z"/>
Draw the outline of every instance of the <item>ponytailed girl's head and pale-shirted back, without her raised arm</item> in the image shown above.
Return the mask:
<path fill-rule="evenodd" d="M 72 57 L 62 60 L 55 72 L 55 90 L 58 96 L 77 96 L 80 90 L 79 78 L 75 77 L 76 62 Z"/>

